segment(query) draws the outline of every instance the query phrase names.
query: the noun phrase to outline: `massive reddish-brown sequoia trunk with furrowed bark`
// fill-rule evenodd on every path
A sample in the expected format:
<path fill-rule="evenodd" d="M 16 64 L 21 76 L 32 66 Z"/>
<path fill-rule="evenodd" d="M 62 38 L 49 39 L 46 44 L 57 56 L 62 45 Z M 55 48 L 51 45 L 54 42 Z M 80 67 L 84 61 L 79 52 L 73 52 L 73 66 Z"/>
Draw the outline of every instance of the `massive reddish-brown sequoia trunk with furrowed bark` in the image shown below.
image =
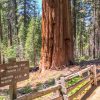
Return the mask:
<path fill-rule="evenodd" d="M 70 0 L 42 0 L 40 67 L 59 69 L 73 61 Z"/>

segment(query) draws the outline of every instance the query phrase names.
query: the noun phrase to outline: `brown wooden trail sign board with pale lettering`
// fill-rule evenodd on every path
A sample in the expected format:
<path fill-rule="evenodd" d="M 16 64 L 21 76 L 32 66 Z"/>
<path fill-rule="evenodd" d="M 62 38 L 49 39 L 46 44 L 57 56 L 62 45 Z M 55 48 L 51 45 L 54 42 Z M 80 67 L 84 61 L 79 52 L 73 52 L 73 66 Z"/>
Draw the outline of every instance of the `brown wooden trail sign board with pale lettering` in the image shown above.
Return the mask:
<path fill-rule="evenodd" d="M 11 62 L 0 65 L 0 87 L 12 85 L 29 78 L 29 62 Z"/>

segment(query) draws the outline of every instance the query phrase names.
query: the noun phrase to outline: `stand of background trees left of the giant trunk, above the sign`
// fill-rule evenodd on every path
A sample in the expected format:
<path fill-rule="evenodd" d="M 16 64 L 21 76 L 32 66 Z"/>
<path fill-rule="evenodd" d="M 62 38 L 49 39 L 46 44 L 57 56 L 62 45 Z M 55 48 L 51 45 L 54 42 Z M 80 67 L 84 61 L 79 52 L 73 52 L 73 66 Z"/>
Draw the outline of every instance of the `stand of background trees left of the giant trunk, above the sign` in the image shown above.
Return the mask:
<path fill-rule="evenodd" d="M 36 65 L 41 48 L 41 8 L 37 0 L 0 1 L 0 63 L 8 58 Z"/>

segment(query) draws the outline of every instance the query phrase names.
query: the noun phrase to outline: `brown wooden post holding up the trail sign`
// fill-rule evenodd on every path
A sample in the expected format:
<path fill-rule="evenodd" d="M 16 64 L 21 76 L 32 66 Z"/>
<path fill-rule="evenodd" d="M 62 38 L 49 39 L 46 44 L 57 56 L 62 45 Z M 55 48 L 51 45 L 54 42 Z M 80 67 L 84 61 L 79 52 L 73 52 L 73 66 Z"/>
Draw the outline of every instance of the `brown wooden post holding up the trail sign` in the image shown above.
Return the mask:
<path fill-rule="evenodd" d="M 8 62 L 16 62 L 16 58 L 10 58 L 8 59 Z M 17 98 L 17 93 L 16 93 L 16 89 L 17 89 L 17 83 L 13 82 L 12 85 L 9 86 L 10 89 L 10 100 L 14 100 Z"/>

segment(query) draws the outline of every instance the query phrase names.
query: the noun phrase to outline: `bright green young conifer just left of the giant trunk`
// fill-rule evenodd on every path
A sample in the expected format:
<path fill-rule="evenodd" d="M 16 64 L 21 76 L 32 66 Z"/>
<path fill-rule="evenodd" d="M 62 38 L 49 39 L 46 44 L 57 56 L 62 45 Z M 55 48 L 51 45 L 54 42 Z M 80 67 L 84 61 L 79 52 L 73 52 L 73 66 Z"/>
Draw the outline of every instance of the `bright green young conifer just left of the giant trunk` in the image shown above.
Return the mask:
<path fill-rule="evenodd" d="M 41 28 L 40 19 L 32 18 L 29 24 L 26 44 L 25 44 L 25 54 L 26 58 L 30 60 L 30 63 L 34 64 L 34 59 L 40 58 L 40 48 L 41 48 Z"/>

